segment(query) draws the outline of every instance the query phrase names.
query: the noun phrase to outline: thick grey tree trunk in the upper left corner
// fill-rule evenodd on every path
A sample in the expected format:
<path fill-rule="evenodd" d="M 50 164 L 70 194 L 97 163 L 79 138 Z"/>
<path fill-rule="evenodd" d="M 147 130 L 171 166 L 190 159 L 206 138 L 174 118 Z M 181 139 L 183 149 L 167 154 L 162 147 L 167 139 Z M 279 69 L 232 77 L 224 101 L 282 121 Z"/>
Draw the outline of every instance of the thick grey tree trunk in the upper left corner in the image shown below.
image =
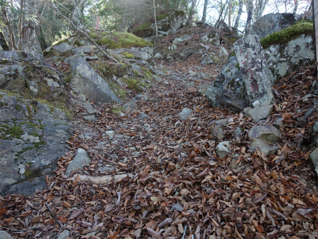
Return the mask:
<path fill-rule="evenodd" d="M 35 0 L 24 0 L 24 19 L 22 24 L 22 51 L 34 51 L 42 54 L 38 35 L 35 31 L 35 21 L 31 17 L 37 15 Z"/>

